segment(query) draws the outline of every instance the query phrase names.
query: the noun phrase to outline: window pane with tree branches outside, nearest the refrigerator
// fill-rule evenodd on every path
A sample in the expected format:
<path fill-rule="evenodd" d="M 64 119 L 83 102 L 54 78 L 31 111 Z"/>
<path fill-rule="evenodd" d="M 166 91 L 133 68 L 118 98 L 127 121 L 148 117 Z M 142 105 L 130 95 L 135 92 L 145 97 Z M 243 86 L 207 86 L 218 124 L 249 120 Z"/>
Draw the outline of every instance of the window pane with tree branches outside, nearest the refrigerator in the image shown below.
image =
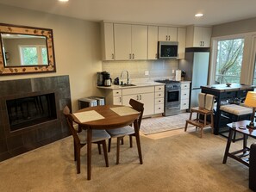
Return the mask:
<path fill-rule="evenodd" d="M 240 83 L 244 39 L 218 40 L 215 83 Z"/>

